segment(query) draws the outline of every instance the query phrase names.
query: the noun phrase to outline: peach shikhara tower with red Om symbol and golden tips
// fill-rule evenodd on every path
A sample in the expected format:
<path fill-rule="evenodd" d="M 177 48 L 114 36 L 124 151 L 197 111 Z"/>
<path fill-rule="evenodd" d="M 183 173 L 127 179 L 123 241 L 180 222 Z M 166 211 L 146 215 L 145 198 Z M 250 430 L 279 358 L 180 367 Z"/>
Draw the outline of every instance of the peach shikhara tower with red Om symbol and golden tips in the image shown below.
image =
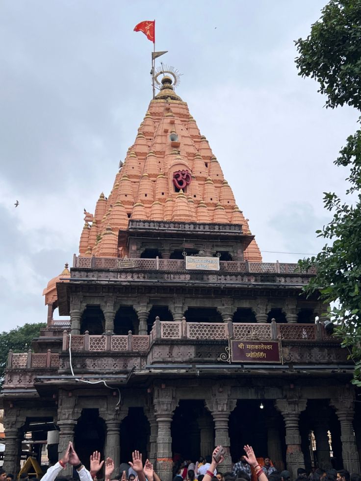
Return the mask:
<path fill-rule="evenodd" d="M 241 225 L 243 258 L 238 255 L 233 260 L 261 262 L 232 188 L 170 77 L 162 78 L 160 91 L 120 165 L 109 197 L 102 193 L 94 215 L 86 213 L 81 256 L 131 256 L 122 235 L 129 221 L 167 221 Z"/>

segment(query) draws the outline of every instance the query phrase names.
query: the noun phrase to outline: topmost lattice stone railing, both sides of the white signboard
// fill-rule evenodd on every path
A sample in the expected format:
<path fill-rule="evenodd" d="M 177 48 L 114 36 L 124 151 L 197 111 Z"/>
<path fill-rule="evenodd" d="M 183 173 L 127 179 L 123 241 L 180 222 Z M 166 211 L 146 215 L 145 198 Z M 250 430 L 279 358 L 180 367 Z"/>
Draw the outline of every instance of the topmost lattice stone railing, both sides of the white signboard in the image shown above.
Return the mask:
<path fill-rule="evenodd" d="M 142 259 L 142 258 L 127 258 L 131 261 L 134 267 L 129 268 L 124 258 L 117 257 L 84 257 L 74 256 L 73 267 L 83 267 L 89 269 L 116 269 L 123 270 L 122 265 L 126 269 L 132 270 L 154 270 L 154 271 L 185 271 L 185 261 L 183 259 Z M 221 260 L 220 269 L 218 272 L 232 273 L 257 273 L 257 274 L 315 274 L 315 269 L 309 269 L 308 272 L 300 271 L 298 264 L 284 263 L 284 262 L 248 262 L 248 261 L 226 261 Z M 189 271 L 187 271 L 189 272 Z"/>

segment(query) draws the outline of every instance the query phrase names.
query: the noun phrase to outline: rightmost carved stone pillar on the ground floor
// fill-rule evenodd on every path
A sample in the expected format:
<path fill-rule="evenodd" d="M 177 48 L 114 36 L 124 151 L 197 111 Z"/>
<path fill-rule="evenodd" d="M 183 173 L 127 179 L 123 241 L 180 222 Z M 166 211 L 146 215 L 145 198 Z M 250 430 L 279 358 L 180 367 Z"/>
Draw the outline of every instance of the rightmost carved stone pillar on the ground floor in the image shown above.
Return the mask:
<path fill-rule="evenodd" d="M 331 399 L 330 404 L 335 407 L 341 426 L 343 467 L 349 473 L 359 473 L 360 459 L 353 429 L 354 394 L 346 386 L 340 388 L 338 394 L 338 398 Z"/>

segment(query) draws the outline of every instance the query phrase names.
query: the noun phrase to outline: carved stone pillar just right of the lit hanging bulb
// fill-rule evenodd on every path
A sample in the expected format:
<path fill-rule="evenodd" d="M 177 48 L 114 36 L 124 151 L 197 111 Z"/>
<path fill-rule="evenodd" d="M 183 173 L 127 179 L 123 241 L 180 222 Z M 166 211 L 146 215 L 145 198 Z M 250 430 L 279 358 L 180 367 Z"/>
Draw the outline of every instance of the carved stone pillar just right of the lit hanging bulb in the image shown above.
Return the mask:
<path fill-rule="evenodd" d="M 298 426 L 300 413 L 306 409 L 306 399 L 277 399 L 275 401 L 286 428 L 286 468 L 293 479 L 297 478 L 297 468 L 305 467 L 305 458 L 301 450 L 301 436 Z"/>

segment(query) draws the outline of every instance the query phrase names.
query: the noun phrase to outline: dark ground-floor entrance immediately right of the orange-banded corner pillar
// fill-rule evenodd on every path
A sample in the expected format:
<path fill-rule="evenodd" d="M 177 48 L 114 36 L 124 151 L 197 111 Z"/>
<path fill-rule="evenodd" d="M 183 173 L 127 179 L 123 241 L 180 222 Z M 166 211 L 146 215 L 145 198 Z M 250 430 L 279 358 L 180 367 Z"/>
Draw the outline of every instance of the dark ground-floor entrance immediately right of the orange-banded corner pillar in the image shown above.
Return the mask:
<path fill-rule="evenodd" d="M 213 420 L 203 400 L 182 399 L 176 408 L 171 425 L 174 459 L 191 459 L 212 453 Z M 210 451 L 209 451 L 210 450 Z"/>

